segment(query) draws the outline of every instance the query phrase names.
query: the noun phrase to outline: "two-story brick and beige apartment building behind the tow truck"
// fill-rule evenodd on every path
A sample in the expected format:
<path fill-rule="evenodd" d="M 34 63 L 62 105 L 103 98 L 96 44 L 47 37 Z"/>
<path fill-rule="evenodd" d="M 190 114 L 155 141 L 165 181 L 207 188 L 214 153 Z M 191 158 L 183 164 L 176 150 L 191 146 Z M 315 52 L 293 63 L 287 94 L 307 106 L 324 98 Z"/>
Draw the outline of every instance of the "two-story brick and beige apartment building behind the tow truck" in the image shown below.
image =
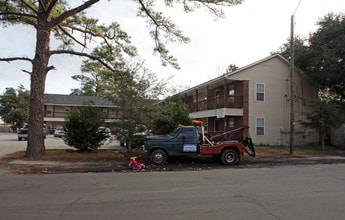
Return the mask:
<path fill-rule="evenodd" d="M 295 144 L 317 142 L 298 121 L 317 98 L 317 88 L 294 70 Z M 290 63 L 272 55 L 180 93 L 193 119 L 204 121 L 209 135 L 250 126 L 255 144 L 288 145 L 290 130 Z M 236 137 L 234 137 L 236 138 Z"/>

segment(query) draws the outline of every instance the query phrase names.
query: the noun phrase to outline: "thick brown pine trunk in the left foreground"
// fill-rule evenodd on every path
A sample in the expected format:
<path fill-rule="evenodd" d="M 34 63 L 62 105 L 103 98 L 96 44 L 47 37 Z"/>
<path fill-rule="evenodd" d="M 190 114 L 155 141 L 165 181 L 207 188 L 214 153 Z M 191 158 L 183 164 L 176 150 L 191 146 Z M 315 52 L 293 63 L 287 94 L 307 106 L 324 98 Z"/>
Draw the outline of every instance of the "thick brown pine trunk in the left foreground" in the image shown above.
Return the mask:
<path fill-rule="evenodd" d="M 29 132 L 26 157 L 45 155 L 43 118 L 44 89 L 50 58 L 50 17 L 39 9 L 36 25 L 36 53 L 31 73 L 31 91 L 29 106 Z"/>

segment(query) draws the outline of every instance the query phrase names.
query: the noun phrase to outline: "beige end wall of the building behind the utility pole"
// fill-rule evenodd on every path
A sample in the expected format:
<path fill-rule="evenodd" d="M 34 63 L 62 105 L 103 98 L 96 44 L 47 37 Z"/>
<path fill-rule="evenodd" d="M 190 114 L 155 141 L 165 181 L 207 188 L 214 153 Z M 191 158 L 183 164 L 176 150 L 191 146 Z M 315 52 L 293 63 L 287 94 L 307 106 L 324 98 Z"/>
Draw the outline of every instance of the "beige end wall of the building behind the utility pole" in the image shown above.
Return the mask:
<path fill-rule="evenodd" d="M 282 135 L 280 130 L 290 128 L 290 67 L 279 57 L 268 59 L 262 63 L 251 66 L 234 75 L 229 79 L 249 80 L 249 132 L 255 144 L 288 145 L 289 135 Z M 309 84 L 299 73 L 294 74 L 295 90 L 295 128 L 299 128 L 297 121 L 307 111 L 306 101 L 316 98 L 316 89 Z M 256 101 L 256 84 L 264 84 L 264 101 Z M 256 118 L 264 118 L 264 135 L 255 132 Z M 309 134 L 307 131 L 304 135 Z M 310 135 L 301 139 L 301 134 L 295 135 L 295 142 L 303 145 L 313 142 L 315 139 Z"/>

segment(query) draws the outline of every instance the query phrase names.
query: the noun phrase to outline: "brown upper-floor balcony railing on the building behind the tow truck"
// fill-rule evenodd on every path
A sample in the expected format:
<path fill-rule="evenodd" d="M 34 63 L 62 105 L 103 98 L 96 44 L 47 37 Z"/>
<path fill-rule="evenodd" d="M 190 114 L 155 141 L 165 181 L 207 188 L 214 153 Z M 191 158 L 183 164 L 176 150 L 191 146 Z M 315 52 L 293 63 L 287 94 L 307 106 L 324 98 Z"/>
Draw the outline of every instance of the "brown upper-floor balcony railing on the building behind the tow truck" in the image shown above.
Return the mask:
<path fill-rule="evenodd" d="M 186 103 L 189 112 L 198 112 L 218 108 L 242 108 L 243 96 L 219 96 L 196 103 Z"/>

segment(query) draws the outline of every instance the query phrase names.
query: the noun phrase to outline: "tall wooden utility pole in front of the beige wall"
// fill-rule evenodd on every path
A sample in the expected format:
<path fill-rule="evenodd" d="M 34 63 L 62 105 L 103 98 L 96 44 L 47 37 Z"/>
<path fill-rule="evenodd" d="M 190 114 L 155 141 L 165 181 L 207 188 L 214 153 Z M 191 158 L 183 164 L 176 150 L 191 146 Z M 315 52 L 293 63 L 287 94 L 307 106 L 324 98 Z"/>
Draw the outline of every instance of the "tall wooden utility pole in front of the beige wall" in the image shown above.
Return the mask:
<path fill-rule="evenodd" d="M 295 133 L 295 113 L 294 113 L 294 62 L 295 62 L 295 44 L 294 44 L 294 15 L 291 15 L 291 36 L 290 36 L 290 156 L 294 155 L 294 133 Z"/>

